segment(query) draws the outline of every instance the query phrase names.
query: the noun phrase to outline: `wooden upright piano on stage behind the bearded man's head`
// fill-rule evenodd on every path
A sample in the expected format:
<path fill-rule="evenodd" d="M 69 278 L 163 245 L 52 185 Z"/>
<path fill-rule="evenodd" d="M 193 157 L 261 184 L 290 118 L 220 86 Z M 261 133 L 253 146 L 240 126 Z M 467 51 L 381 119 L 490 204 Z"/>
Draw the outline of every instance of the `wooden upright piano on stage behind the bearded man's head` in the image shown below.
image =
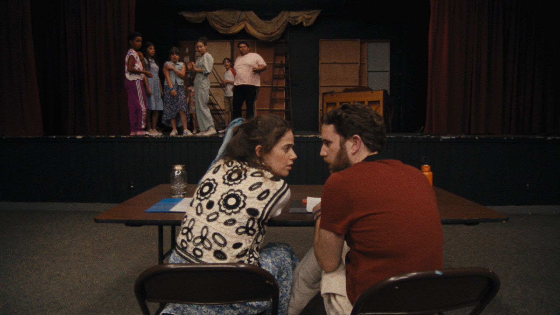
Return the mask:
<path fill-rule="evenodd" d="M 321 115 L 344 103 L 357 102 L 368 105 L 371 109 L 383 116 L 387 132 L 391 132 L 391 121 L 393 120 L 393 100 L 386 90 L 372 91 L 370 89 L 357 89 L 346 92 L 325 92 L 323 93 L 321 99 L 323 101 L 321 106 Z"/>

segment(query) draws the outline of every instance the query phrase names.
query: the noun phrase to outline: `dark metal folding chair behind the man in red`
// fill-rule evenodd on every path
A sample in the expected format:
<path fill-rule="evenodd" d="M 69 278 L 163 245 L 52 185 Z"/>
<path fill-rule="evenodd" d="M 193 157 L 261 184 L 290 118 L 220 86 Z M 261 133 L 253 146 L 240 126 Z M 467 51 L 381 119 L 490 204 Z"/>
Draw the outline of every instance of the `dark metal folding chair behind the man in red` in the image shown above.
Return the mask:
<path fill-rule="evenodd" d="M 500 279 L 486 268 L 412 272 L 377 282 L 358 297 L 351 315 L 442 314 L 474 307 L 479 314 L 496 296 Z"/>

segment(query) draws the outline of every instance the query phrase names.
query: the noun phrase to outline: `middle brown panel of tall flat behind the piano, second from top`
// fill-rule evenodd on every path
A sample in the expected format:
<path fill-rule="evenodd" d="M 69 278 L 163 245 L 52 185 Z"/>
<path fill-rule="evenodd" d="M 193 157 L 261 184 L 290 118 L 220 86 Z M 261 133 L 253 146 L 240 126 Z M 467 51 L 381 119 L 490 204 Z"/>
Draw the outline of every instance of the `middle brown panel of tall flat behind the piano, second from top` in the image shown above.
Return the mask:
<path fill-rule="evenodd" d="M 358 86 L 360 64 L 323 63 L 319 68 L 319 85 Z"/>

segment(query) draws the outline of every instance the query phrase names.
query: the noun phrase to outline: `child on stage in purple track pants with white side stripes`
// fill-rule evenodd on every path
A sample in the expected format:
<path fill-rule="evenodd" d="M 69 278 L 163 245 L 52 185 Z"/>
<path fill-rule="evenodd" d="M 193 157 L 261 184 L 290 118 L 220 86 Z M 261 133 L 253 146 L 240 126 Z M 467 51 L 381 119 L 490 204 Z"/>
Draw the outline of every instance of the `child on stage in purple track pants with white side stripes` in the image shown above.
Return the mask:
<path fill-rule="evenodd" d="M 128 52 L 125 57 L 124 86 L 128 94 L 128 117 L 130 121 L 130 136 L 146 135 L 146 92 L 142 81 L 144 75 L 151 78 L 152 74 L 144 71 L 138 50 L 142 47 L 142 35 L 132 32 L 128 35 Z"/>

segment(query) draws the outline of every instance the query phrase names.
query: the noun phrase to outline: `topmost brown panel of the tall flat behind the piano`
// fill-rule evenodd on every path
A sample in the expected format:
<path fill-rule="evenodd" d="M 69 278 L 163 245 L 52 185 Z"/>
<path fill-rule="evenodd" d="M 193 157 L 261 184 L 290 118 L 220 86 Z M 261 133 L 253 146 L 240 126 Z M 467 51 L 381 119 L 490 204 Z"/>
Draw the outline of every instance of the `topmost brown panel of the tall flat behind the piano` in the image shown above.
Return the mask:
<path fill-rule="evenodd" d="M 321 39 L 319 60 L 323 62 L 360 62 L 359 39 Z"/>

